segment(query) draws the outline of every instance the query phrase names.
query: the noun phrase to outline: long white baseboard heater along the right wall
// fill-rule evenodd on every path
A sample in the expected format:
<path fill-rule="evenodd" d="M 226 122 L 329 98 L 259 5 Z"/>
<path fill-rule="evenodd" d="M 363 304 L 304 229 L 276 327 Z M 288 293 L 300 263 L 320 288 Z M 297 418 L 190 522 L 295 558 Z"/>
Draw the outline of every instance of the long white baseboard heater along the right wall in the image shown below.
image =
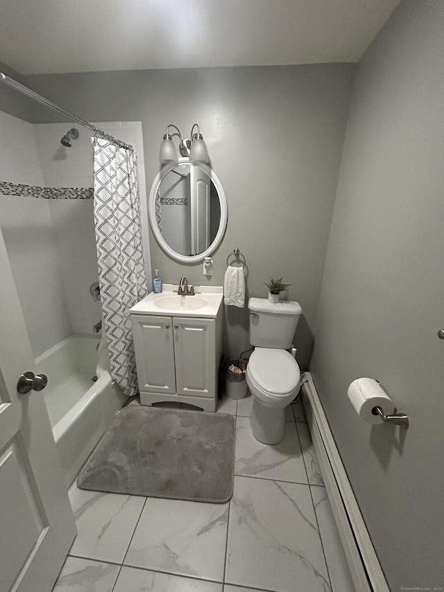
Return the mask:
<path fill-rule="evenodd" d="M 390 592 L 309 372 L 302 375 L 302 398 L 356 592 Z"/>

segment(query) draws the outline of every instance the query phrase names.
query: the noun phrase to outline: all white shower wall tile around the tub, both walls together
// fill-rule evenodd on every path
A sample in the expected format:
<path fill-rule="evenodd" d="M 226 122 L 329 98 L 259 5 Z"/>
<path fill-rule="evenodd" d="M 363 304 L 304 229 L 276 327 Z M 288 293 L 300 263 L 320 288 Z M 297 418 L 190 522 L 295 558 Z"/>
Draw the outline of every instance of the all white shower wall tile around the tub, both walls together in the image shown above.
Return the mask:
<path fill-rule="evenodd" d="M 141 124 L 96 125 L 135 146 L 146 205 Z M 70 127 L 28 124 L 0 112 L 0 180 L 37 187 L 92 187 L 90 133 L 80 128 L 80 137 L 67 149 L 60 138 Z M 99 279 L 92 200 L 0 194 L 0 226 L 34 355 L 73 332 L 92 333 L 101 319 L 101 305 L 89 294 L 89 286 Z M 148 244 L 146 209 L 142 234 Z M 146 260 L 151 275 L 149 257 Z"/>

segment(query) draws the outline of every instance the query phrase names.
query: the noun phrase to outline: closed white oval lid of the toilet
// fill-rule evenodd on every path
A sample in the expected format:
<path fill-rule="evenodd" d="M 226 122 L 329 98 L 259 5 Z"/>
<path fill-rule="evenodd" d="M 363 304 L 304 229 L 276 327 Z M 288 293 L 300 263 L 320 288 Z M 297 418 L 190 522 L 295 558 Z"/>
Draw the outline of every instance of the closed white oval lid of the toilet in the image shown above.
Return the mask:
<path fill-rule="evenodd" d="M 256 348 L 250 355 L 248 371 L 257 386 L 273 396 L 291 393 L 300 380 L 298 363 L 286 350 Z"/>

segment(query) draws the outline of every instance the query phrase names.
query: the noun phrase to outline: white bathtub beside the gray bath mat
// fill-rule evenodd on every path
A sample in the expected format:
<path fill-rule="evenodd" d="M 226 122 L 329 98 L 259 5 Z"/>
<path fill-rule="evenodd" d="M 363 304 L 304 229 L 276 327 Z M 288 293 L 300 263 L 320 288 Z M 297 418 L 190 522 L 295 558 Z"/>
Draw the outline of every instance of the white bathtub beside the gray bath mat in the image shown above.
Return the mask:
<path fill-rule="evenodd" d="M 71 335 L 37 357 L 35 364 L 48 376 L 44 400 L 70 487 L 126 396 L 112 382 L 105 341 L 95 335 Z"/>

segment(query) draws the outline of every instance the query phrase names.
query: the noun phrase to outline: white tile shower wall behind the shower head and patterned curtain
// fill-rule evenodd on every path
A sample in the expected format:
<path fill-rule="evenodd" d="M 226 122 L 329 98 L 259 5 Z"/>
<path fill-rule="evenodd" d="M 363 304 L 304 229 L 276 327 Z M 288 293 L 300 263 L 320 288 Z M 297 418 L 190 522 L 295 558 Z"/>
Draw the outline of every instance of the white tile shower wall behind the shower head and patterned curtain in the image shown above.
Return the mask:
<path fill-rule="evenodd" d="M 142 126 L 137 121 L 96 122 L 95 126 L 135 146 L 139 160 L 139 190 L 142 205 L 142 235 L 148 244 L 148 215 L 146 214 L 146 187 Z M 40 163 L 46 187 L 92 187 L 93 149 L 91 133 L 78 128 L 78 139 L 71 148 L 60 144 L 71 124 L 35 124 Z M 91 333 L 101 319 L 101 305 L 94 302 L 89 286 L 99 280 L 96 261 L 96 241 L 92 200 L 50 200 L 51 216 L 60 260 L 62 280 L 74 333 Z M 142 207 L 142 206 L 141 206 Z M 149 257 L 146 259 L 148 277 Z"/>

